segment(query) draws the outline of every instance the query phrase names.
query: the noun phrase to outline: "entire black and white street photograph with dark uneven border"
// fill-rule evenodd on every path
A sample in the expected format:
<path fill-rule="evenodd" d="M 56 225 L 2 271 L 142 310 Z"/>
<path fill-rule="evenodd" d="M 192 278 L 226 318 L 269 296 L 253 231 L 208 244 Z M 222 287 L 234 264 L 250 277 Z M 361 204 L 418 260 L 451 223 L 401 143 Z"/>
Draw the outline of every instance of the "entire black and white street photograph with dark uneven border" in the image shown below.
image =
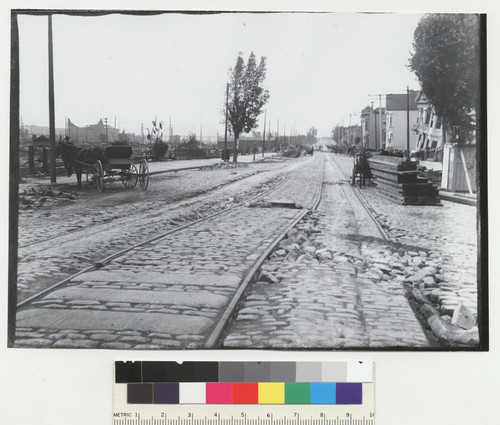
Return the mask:
<path fill-rule="evenodd" d="M 484 14 L 11 34 L 9 347 L 488 350 Z"/>

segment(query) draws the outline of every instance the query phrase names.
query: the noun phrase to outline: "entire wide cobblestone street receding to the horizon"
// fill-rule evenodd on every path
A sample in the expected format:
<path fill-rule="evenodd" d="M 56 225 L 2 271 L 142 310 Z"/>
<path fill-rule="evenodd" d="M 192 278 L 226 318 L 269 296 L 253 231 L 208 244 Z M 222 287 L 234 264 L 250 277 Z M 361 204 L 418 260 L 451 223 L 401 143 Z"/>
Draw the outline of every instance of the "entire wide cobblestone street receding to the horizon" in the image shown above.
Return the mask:
<path fill-rule="evenodd" d="M 476 209 L 446 201 L 443 207 L 390 203 L 373 187 L 353 189 L 351 167 L 352 158 L 317 153 L 154 176 L 148 199 L 120 203 L 123 191 L 110 189 L 96 217 L 91 211 L 102 198 L 84 194 L 86 210 L 76 227 L 57 215 L 77 211 L 82 199 L 48 215 L 48 208 L 23 212 L 21 227 L 46 217 L 42 235 L 53 231 L 57 244 L 30 245 L 40 236 L 30 240 L 22 229 L 21 298 L 106 255 L 222 211 L 74 276 L 21 309 L 16 346 L 203 348 L 252 276 L 221 347 L 447 346 L 422 318 L 415 297 L 430 299 L 427 309 L 447 323 L 459 305 L 477 314 Z M 266 202 L 228 209 L 279 182 Z M 321 201 L 312 211 L 320 183 Z M 471 345 L 476 334 L 477 327 L 465 343 L 462 335 L 454 343 Z"/>

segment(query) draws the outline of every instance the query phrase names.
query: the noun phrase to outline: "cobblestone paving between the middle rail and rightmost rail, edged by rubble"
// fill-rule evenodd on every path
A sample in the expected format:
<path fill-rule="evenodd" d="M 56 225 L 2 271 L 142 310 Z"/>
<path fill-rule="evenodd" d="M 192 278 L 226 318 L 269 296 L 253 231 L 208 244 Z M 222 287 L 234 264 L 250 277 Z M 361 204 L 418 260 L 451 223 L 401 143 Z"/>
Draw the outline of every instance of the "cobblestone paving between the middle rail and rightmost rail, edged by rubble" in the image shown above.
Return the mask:
<path fill-rule="evenodd" d="M 297 230 L 309 235 L 290 237 L 304 254 L 294 243 L 280 244 L 262 267 L 276 280 L 261 274 L 249 288 L 224 347 L 428 346 L 401 283 L 383 279 L 376 267 L 387 267 L 380 259 L 390 251 L 386 242 L 332 162 L 318 211 Z"/>

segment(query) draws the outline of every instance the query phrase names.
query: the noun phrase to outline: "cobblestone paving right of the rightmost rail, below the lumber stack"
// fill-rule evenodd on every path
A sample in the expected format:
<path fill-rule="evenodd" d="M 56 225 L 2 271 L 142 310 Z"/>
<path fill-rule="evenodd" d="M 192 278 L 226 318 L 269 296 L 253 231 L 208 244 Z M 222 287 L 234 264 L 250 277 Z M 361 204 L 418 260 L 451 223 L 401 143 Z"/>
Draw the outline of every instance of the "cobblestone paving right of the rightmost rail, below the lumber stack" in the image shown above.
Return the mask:
<path fill-rule="evenodd" d="M 352 159 L 335 156 L 344 173 Z M 376 188 L 362 190 L 377 220 L 391 239 L 414 247 L 410 262 L 439 266 L 437 279 L 422 288 L 444 314 L 459 303 L 477 314 L 477 210 L 473 206 L 441 201 L 442 207 L 403 206 L 387 202 Z M 430 253 L 432 258 L 427 258 Z"/>

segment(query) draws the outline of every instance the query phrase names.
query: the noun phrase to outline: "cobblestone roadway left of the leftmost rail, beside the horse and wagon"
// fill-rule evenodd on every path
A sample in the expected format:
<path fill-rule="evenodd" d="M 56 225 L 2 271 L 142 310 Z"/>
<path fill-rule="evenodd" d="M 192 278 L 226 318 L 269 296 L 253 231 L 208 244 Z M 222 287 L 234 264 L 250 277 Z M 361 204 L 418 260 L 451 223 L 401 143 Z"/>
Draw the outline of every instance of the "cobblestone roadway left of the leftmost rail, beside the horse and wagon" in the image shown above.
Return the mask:
<path fill-rule="evenodd" d="M 154 176 L 153 190 L 139 191 L 137 196 L 131 197 L 132 203 L 129 200 L 124 204 L 117 204 L 116 200 L 110 203 L 107 199 L 108 196 L 123 197 L 127 193 L 123 189 L 111 194 L 99 194 L 102 196 L 94 198 L 93 202 L 79 199 L 75 205 L 60 206 L 52 212 L 44 209 L 20 211 L 19 226 L 24 239 L 20 235 L 18 300 L 38 293 L 107 255 L 171 230 L 185 221 L 229 208 L 265 190 L 277 176 L 283 178 L 296 166 L 293 163 L 254 165 L 258 174 L 255 170 L 251 171 L 253 167 L 246 165 L 237 171 L 192 171 L 186 172 L 187 175 L 176 180 L 175 184 L 171 178 Z M 236 177 L 232 173 L 236 173 Z M 230 182 L 233 183 L 228 184 Z M 218 190 L 193 196 L 219 186 L 222 187 Z M 171 193 L 173 188 L 175 194 Z M 188 199 L 179 201 L 182 190 L 185 190 Z M 144 196 L 147 196 L 145 200 L 142 199 Z M 76 227 L 74 223 L 77 223 Z M 69 233 L 77 227 L 81 230 Z M 33 231 L 32 239 L 27 239 L 30 230 Z M 22 247 L 23 243 L 40 241 L 40 237 L 47 235 L 56 239 Z"/>

